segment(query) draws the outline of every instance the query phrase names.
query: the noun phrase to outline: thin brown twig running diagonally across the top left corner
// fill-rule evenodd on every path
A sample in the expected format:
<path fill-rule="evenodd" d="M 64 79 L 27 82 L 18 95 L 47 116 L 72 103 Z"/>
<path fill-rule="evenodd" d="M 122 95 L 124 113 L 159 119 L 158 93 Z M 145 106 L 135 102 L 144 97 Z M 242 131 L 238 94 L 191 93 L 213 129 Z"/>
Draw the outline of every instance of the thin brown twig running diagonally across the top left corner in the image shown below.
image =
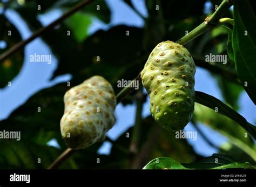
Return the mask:
<path fill-rule="evenodd" d="M 15 53 L 16 51 L 22 49 L 26 44 L 30 43 L 32 40 L 43 34 L 44 32 L 48 31 L 49 29 L 55 27 L 56 25 L 60 24 L 64 19 L 68 18 L 71 16 L 73 13 L 75 13 L 77 10 L 82 9 L 84 6 L 87 4 L 91 3 L 93 0 L 86 0 L 78 3 L 77 5 L 73 6 L 72 9 L 70 9 L 68 12 L 64 13 L 60 18 L 56 19 L 54 22 L 49 24 L 48 26 L 41 27 L 38 29 L 31 37 L 24 41 L 20 41 L 19 43 L 15 44 L 12 46 L 8 51 L 5 51 L 3 54 L 0 56 L 0 61 L 3 61 L 4 59 L 8 58 L 11 56 L 11 54 Z"/>

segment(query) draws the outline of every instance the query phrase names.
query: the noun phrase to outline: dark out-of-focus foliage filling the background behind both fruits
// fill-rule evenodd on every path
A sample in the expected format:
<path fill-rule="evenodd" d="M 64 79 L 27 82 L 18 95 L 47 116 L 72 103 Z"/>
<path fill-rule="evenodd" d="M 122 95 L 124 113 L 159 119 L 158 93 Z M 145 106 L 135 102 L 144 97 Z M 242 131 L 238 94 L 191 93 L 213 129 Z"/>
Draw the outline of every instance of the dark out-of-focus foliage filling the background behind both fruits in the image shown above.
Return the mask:
<path fill-rule="evenodd" d="M 78 0 L 53 0 L 24 1 L 23 4 L 19 4 L 17 1 L 9 1 L 8 5 L 2 3 L 1 6 L 8 6 L 9 9 L 17 11 L 30 26 L 30 29 L 36 31 L 42 27 L 41 22 L 38 21 L 39 14 L 52 9 L 67 11 L 78 2 Z M 129 0 L 125 2 L 131 6 L 131 9 L 134 9 Z M 212 0 L 211 2 L 220 4 L 221 1 Z M 117 80 L 135 78 L 143 69 L 148 54 L 156 44 L 163 40 L 176 41 L 184 36 L 184 31 L 191 31 L 207 17 L 204 13 L 205 3 L 206 0 L 146 1 L 149 16 L 144 18 L 145 26 L 143 28 L 118 25 L 89 35 L 87 30 L 93 18 L 98 18 L 104 23 L 110 22 L 111 11 L 105 1 L 95 1 L 76 12 L 55 29 L 43 34 L 42 39 L 58 59 L 58 67 L 52 75 L 52 79 L 58 75 L 70 73 L 72 75 L 71 86 L 74 86 L 86 78 L 98 74 L 109 80 L 115 93 L 118 93 L 121 88 L 117 88 Z M 35 9 L 38 4 L 41 4 L 41 11 Z M 100 5 L 101 11 L 95 9 L 96 5 Z M 156 11 L 156 5 L 159 5 L 159 11 Z M 212 11 L 214 11 L 214 7 Z M 235 9 L 234 11 L 238 10 Z M 225 17 L 232 18 L 232 10 L 226 12 Z M 246 22 L 249 20 L 245 20 L 244 15 L 239 18 L 239 21 L 244 23 L 244 27 L 246 27 Z M 252 25 L 246 29 L 254 32 L 255 28 Z M 245 77 L 245 75 L 249 76 L 250 74 L 245 74 L 244 68 L 248 67 L 255 70 L 255 63 L 253 63 L 255 58 L 250 54 L 247 55 L 250 59 L 246 60 L 246 62 L 249 61 L 248 66 L 234 63 L 234 59 L 241 58 L 237 49 L 238 40 L 241 40 L 239 43 L 242 45 L 241 49 L 250 53 L 248 50 L 250 48 L 248 46 L 249 41 L 239 38 L 239 30 L 242 29 L 244 28 L 234 26 L 232 35 L 223 26 L 217 26 L 186 45 L 196 65 L 206 68 L 212 73 L 218 81 L 225 102 L 235 110 L 239 108 L 237 101 L 243 90 L 240 81 L 242 82 L 244 79 L 253 81 L 253 78 Z M 12 30 L 11 38 L 7 38 L 6 34 L 3 34 L 8 30 Z M 71 30 L 74 34 L 67 36 L 67 30 Z M 126 36 L 126 31 L 130 32 L 129 37 Z M 231 38 L 236 37 L 236 34 L 238 40 L 231 43 Z M 21 34 L 4 14 L 0 15 L 0 40 L 6 42 L 6 48 L 0 49 L 0 53 L 21 40 Z M 252 40 L 250 45 L 254 45 L 254 41 Z M 228 45 L 232 45 L 233 48 L 232 46 L 227 48 Z M 227 54 L 227 49 L 230 49 L 228 51 L 230 58 L 226 66 L 216 63 L 204 64 L 205 54 Z M 234 55 L 233 58 L 232 55 Z M 100 61 L 96 60 L 97 56 L 100 57 Z M 16 77 L 22 68 L 23 61 L 24 50 L 20 50 L 0 63 L 1 88 Z M 245 61 L 241 61 L 241 63 L 245 63 Z M 255 78 L 255 71 L 252 71 L 251 76 Z M 255 89 L 255 82 L 250 82 L 250 84 L 254 84 Z M 64 111 L 63 95 L 68 89 L 66 83 L 42 89 L 24 105 L 12 112 L 8 119 L 0 121 L 0 130 L 19 130 L 22 134 L 20 142 L 0 140 L 1 169 L 46 168 L 66 149 L 60 135 L 59 121 Z M 250 94 L 255 93 L 251 90 L 248 92 Z M 124 105 L 134 102 L 136 98 L 134 93 L 123 101 Z M 38 107 L 42 108 L 40 113 L 37 112 Z M 230 143 L 218 148 L 219 153 L 228 155 L 238 162 L 247 161 L 255 164 L 255 142 L 250 137 L 244 138 L 243 135 L 246 131 L 237 122 L 197 104 L 193 123 L 197 126 L 199 122 L 218 131 L 230 140 Z M 60 168 L 143 168 L 146 163 L 159 156 L 171 157 L 179 163 L 198 162 L 203 158 L 194 151 L 186 139 L 177 139 L 174 133 L 160 129 L 151 116 L 143 119 L 138 151 L 132 153 L 129 149 L 131 140 L 126 137 L 126 133 L 130 133 L 132 137 L 133 128 L 130 128 L 116 141 L 109 140 L 113 145 L 110 155 L 98 155 L 97 150 L 102 143 L 97 143 L 85 150 L 76 151 Z M 60 148 L 46 145 L 52 138 L 56 138 Z M 42 164 L 37 163 L 38 158 L 41 158 Z M 100 158 L 103 164 L 97 164 L 96 158 Z M 245 166 L 248 165 L 250 164 L 245 164 Z"/>

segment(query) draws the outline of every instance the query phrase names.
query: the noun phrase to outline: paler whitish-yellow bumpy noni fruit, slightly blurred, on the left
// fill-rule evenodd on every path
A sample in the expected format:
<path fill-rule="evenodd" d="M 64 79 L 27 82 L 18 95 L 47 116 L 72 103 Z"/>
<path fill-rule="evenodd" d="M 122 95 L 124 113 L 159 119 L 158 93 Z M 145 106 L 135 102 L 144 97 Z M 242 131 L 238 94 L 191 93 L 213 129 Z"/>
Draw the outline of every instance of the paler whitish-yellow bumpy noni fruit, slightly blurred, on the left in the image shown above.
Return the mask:
<path fill-rule="evenodd" d="M 94 76 L 64 95 L 65 112 L 60 131 L 72 149 L 83 149 L 105 139 L 114 124 L 116 97 L 103 77 Z"/>

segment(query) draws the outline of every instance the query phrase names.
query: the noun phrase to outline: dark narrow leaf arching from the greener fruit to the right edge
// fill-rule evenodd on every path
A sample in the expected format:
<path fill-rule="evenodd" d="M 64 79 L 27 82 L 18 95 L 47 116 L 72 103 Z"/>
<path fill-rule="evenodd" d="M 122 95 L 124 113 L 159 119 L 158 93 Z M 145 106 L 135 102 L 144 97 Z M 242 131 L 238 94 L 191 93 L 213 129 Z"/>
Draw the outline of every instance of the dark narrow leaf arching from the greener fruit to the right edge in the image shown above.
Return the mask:
<path fill-rule="evenodd" d="M 242 128 L 247 130 L 248 133 L 253 136 L 254 140 L 256 139 L 256 127 L 253 126 L 251 123 L 248 123 L 246 119 L 237 112 L 235 112 L 235 110 L 228 107 L 217 98 L 214 98 L 214 96 L 196 91 L 195 99 L 196 102 L 200 103 L 201 105 L 207 106 L 213 110 L 218 109 L 218 113 L 230 117 L 230 119 L 234 120 L 235 122 L 240 124 Z"/>

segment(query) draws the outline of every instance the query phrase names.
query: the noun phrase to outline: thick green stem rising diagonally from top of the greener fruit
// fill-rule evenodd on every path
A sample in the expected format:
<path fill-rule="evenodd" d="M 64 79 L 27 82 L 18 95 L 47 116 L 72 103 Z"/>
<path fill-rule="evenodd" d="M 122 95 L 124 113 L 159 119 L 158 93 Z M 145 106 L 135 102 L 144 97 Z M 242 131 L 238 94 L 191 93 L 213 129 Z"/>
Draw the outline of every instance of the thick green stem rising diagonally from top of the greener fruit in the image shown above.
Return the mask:
<path fill-rule="evenodd" d="M 224 0 L 221 2 L 217 10 L 213 13 L 212 16 L 207 17 L 203 23 L 193 29 L 191 32 L 187 33 L 184 37 L 178 39 L 176 43 L 186 44 L 188 41 L 200 36 L 207 30 L 219 24 L 220 18 L 224 15 L 224 13 L 232 6 L 232 1 Z"/>

